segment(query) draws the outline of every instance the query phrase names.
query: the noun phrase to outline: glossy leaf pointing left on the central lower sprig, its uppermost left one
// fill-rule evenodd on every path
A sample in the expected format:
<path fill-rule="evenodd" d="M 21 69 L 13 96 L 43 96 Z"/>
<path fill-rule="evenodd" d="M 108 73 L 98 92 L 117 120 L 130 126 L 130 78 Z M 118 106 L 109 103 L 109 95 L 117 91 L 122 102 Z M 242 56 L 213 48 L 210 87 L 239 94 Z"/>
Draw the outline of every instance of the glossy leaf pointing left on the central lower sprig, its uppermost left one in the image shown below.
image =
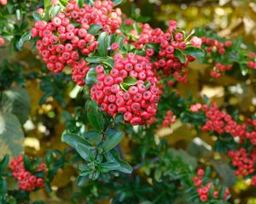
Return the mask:
<path fill-rule="evenodd" d="M 92 144 L 78 134 L 74 133 L 63 133 L 61 136 L 61 141 L 69 144 L 73 148 L 76 148 L 77 144 L 84 144 L 87 148 L 91 148 Z"/>

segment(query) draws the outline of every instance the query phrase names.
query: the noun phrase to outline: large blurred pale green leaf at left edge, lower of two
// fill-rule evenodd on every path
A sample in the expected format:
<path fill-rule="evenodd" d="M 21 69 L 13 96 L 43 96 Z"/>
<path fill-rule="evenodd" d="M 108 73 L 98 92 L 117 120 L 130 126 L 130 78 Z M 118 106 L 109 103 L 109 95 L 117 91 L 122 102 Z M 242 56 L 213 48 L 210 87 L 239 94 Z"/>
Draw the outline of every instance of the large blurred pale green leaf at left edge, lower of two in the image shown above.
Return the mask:
<path fill-rule="evenodd" d="M 0 111 L 0 157 L 18 156 L 23 152 L 24 133 L 20 121 L 12 113 Z"/>

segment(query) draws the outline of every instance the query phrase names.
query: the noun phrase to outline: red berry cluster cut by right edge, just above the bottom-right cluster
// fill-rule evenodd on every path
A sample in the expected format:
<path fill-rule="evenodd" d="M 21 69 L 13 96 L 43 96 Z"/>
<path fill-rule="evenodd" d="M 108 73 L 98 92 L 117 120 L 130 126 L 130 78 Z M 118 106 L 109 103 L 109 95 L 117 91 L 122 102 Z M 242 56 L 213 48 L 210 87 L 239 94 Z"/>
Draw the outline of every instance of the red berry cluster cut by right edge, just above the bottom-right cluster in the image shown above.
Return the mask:
<path fill-rule="evenodd" d="M 247 177 L 248 175 L 255 172 L 254 166 L 256 163 L 256 148 L 251 150 L 249 154 L 247 153 L 247 150 L 244 148 L 241 148 L 236 151 L 230 150 L 228 155 L 232 159 L 232 165 L 234 167 L 237 167 L 236 175 L 242 175 L 244 177 Z M 255 178 L 255 176 L 253 178 Z M 252 183 L 252 185 L 253 184 L 256 185 L 255 181 Z"/>

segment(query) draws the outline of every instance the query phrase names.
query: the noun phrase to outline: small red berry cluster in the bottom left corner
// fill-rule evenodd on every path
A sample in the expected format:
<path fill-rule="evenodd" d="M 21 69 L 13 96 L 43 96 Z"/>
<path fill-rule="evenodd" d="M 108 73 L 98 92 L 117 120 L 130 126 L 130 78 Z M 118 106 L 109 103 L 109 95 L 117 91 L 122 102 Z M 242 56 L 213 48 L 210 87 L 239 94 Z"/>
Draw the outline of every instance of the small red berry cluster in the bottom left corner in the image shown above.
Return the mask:
<path fill-rule="evenodd" d="M 14 178 L 18 180 L 20 190 L 32 191 L 36 188 L 44 187 L 44 179 L 37 178 L 32 173 L 26 171 L 23 156 L 18 156 L 10 161 L 10 168 Z M 46 164 L 41 163 L 35 172 L 47 171 Z"/>

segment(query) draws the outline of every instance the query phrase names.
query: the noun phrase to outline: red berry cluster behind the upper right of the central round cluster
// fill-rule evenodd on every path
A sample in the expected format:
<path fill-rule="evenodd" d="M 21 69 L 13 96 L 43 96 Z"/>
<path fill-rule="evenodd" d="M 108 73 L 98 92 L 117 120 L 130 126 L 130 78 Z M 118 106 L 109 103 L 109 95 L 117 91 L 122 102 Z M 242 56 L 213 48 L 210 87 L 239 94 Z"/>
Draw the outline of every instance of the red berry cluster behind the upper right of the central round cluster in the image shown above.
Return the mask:
<path fill-rule="evenodd" d="M 178 82 L 187 82 L 187 75 L 189 70 L 187 69 L 188 62 L 195 60 L 190 55 L 183 54 L 184 61 L 182 62 L 175 52 L 182 52 L 187 46 L 193 46 L 200 48 L 201 39 L 198 37 L 192 37 L 190 42 L 184 39 L 183 33 L 177 31 L 177 22 L 175 20 L 169 21 L 169 27 L 166 32 L 160 28 L 153 29 L 148 24 L 142 24 L 142 33 L 138 35 L 136 42 L 131 42 L 137 48 L 146 49 L 148 57 L 156 56 L 157 60 L 154 61 L 154 69 L 163 72 L 164 76 L 168 77 L 173 75 Z M 155 53 L 153 48 L 148 48 L 148 43 L 156 43 L 159 45 L 159 51 Z"/>

